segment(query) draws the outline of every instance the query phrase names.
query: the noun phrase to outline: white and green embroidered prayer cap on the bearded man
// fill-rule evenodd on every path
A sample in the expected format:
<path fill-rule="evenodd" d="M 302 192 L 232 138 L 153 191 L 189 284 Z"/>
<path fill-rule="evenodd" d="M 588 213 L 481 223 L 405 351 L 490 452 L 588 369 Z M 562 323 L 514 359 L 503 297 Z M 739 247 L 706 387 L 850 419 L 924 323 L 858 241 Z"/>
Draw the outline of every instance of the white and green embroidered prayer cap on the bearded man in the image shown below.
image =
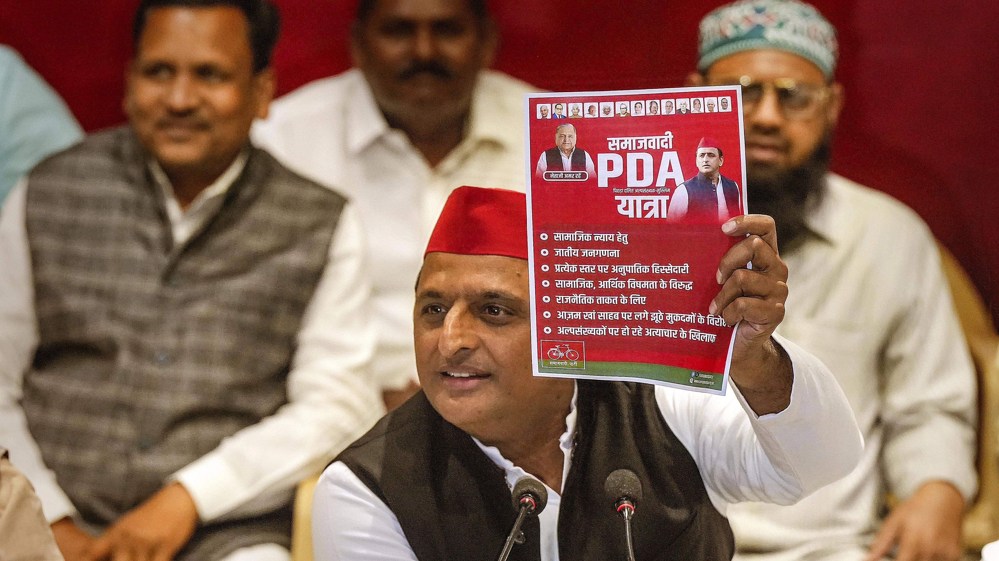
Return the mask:
<path fill-rule="evenodd" d="M 697 70 L 751 49 L 780 49 L 813 63 L 825 78 L 836 68 L 836 28 L 812 5 L 798 0 L 740 0 L 700 20 Z"/>

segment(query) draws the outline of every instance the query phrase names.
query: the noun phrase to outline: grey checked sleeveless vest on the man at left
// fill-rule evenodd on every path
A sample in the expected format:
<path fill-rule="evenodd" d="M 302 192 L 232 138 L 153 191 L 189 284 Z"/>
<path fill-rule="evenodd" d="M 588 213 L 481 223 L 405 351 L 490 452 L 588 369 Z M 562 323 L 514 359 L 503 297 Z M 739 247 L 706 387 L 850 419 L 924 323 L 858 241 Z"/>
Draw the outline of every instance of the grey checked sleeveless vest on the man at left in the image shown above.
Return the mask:
<path fill-rule="evenodd" d="M 296 334 L 345 200 L 251 148 L 219 213 L 173 247 L 131 128 L 28 179 L 39 344 L 22 404 L 46 464 L 103 526 L 287 402 Z M 198 528 L 177 559 L 287 545 L 290 510 Z"/>

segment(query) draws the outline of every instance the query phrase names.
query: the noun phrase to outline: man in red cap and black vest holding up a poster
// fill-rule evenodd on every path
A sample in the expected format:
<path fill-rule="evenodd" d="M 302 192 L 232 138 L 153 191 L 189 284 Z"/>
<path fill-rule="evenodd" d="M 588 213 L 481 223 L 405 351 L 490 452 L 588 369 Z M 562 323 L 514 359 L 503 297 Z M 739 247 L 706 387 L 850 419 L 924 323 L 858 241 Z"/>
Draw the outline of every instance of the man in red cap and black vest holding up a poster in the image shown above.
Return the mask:
<path fill-rule="evenodd" d="M 313 508 L 316 559 L 496 558 L 530 474 L 547 506 L 511 559 L 623 559 L 607 475 L 641 483 L 638 559 L 729 559 L 728 503 L 790 504 L 856 465 L 862 443 L 829 371 L 773 334 L 786 269 L 773 221 L 741 216 L 712 313 L 741 321 L 724 396 L 531 375 L 523 194 L 463 187 L 417 281 L 423 390 L 330 465 Z M 752 261 L 753 269 L 746 269 Z"/>

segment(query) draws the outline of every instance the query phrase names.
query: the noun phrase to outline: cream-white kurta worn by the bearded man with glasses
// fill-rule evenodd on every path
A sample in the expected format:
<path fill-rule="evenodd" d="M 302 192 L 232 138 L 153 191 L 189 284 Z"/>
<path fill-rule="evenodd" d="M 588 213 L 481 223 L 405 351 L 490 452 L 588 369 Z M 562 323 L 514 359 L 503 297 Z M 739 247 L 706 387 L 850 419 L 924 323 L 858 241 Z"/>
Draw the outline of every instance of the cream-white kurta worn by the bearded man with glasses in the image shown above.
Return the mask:
<path fill-rule="evenodd" d="M 860 561 L 886 491 L 905 499 L 942 479 L 975 494 L 974 369 L 929 229 L 882 193 L 828 182 L 810 220 L 820 239 L 782 256 L 777 332 L 836 376 L 866 448 L 852 473 L 794 506 L 730 508 L 736 559 Z"/>

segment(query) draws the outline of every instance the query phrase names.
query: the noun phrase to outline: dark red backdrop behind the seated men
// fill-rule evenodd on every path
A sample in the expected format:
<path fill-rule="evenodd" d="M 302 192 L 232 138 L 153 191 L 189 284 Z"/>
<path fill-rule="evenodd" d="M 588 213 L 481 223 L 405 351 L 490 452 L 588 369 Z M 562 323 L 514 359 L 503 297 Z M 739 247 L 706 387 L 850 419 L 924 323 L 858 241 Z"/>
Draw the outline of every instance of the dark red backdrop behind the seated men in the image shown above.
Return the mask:
<path fill-rule="evenodd" d="M 137 0 L 0 0 L 16 48 L 88 131 L 124 120 L 122 73 Z M 350 66 L 355 1 L 277 0 L 281 93 Z M 562 90 L 682 85 L 696 27 L 719 0 L 496 0 L 496 67 Z M 999 318 L 999 10 L 994 0 L 821 0 L 846 88 L 833 169 L 912 207 Z"/>

